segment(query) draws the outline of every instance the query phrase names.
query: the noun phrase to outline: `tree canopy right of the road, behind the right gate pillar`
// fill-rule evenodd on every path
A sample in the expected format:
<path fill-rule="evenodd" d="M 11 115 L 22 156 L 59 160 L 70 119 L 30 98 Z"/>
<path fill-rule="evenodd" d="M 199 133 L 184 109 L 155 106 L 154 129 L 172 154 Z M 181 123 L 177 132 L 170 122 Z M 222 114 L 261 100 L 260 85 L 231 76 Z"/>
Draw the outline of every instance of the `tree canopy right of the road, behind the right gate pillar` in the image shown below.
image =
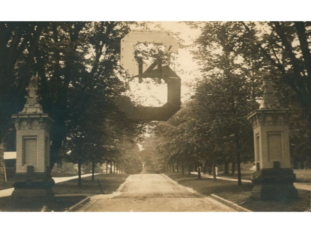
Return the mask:
<path fill-rule="evenodd" d="M 275 83 L 281 107 L 295 110 L 290 120 L 294 167 L 309 161 L 310 23 L 187 24 L 201 28 L 193 43 L 201 77 L 192 84 L 192 99 L 156 128 L 158 163 L 212 163 L 214 156 L 218 164 L 237 162 L 240 173 L 239 163 L 253 160 L 246 116 L 259 106 L 265 76 Z"/>

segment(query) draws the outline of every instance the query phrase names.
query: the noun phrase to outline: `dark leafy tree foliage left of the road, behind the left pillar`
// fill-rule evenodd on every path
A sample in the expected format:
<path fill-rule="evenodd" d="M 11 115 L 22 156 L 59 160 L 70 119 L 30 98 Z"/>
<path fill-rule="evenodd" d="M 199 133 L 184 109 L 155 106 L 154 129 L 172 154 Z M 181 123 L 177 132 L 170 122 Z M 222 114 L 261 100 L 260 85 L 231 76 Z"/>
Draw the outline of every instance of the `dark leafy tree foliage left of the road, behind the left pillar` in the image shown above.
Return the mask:
<path fill-rule="evenodd" d="M 10 116 L 22 109 L 25 86 L 37 74 L 39 102 L 55 121 L 50 169 L 61 160 L 120 160 L 122 144 L 143 131 L 143 124 L 124 117 L 114 104 L 128 89 L 118 63 L 120 39 L 132 24 L 2 22 L 0 140 L 14 133 Z"/>

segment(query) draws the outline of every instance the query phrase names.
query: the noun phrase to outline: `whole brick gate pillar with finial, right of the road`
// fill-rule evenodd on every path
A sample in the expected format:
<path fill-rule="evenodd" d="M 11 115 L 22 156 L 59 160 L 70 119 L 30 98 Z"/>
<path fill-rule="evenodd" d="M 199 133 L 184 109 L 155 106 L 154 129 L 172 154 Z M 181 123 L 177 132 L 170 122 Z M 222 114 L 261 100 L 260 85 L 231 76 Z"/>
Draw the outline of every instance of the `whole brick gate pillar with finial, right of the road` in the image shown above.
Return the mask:
<path fill-rule="evenodd" d="M 298 193 L 290 168 L 289 109 L 280 109 L 271 80 L 263 81 L 263 100 L 258 110 L 248 115 L 254 131 L 256 171 L 252 174 L 252 197 L 292 199 Z"/>

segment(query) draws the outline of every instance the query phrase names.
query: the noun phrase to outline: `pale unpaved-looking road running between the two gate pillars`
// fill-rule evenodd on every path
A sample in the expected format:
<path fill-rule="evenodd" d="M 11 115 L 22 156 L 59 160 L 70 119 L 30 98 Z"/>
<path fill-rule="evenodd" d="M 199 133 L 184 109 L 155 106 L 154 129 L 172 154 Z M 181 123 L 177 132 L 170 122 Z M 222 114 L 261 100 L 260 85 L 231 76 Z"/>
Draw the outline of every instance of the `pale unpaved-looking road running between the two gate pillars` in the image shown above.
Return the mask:
<path fill-rule="evenodd" d="M 227 212 L 232 208 L 160 174 L 130 175 L 115 194 L 96 195 L 78 211 L 86 212 Z M 120 190 L 119 189 L 119 190 Z"/>

